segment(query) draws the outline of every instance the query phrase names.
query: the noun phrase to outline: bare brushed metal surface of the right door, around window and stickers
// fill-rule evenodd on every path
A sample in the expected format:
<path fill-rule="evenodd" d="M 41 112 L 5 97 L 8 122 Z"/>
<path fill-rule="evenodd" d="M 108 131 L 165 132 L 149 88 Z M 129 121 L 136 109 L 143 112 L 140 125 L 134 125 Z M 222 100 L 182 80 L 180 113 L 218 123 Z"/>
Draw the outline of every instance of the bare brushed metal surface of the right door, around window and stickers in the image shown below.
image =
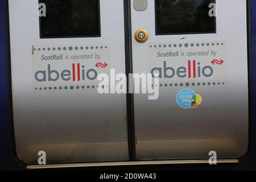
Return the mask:
<path fill-rule="evenodd" d="M 148 73 L 149 45 L 161 44 L 163 47 L 167 43 L 218 40 L 226 43 L 225 86 L 162 86 L 158 100 L 148 100 L 143 94 L 134 94 L 136 153 L 139 160 L 208 158 L 209 151 L 216 151 L 218 158 L 239 158 L 247 152 L 249 90 L 246 1 L 216 2 L 216 34 L 155 35 L 154 1 L 148 1 L 147 10 L 143 13 L 131 11 L 132 32 L 143 27 L 150 35 L 144 44 L 133 39 L 135 73 Z M 148 21 L 145 22 L 145 19 Z M 172 65 L 171 61 L 169 65 Z M 183 82 L 181 78 L 170 79 L 173 85 L 180 82 Z M 189 82 L 197 83 L 198 80 L 191 79 Z M 202 104 L 193 109 L 179 107 L 176 95 L 184 88 L 200 94 Z"/>

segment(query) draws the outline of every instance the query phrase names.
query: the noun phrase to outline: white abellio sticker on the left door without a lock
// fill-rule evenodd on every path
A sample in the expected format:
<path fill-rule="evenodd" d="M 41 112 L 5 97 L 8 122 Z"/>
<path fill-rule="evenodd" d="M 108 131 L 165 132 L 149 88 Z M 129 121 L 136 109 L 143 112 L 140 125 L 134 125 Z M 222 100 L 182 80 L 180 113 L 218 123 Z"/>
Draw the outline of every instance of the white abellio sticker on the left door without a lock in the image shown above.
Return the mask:
<path fill-rule="evenodd" d="M 97 76 L 109 75 L 108 46 L 33 46 L 36 92 L 97 88 Z"/>

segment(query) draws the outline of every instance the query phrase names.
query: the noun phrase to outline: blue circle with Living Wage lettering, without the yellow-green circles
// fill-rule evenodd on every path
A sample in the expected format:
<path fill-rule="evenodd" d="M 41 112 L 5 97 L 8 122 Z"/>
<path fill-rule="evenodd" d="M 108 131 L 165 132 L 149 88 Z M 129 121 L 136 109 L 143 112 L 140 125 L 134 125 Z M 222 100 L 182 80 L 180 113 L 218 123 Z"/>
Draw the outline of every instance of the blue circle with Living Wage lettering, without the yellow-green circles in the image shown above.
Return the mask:
<path fill-rule="evenodd" d="M 196 93 L 191 89 L 180 90 L 176 96 L 177 104 L 184 109 L 189 109 L 192 107 L 193 96 L 195 95 Z"/>

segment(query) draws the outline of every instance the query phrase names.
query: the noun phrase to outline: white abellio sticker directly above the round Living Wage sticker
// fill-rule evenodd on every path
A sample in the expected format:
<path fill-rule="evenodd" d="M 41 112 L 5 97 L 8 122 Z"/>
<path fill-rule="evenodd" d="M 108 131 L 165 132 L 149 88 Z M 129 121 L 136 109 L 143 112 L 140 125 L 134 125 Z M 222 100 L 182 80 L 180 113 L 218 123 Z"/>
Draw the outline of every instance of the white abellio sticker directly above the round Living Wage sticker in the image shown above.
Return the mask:
<path fill-rule="evenodd" d="M 149 45 L 149 71 L 159 73 L 160 86 L 226 84 L 225 43 L 190 42 Z"/>

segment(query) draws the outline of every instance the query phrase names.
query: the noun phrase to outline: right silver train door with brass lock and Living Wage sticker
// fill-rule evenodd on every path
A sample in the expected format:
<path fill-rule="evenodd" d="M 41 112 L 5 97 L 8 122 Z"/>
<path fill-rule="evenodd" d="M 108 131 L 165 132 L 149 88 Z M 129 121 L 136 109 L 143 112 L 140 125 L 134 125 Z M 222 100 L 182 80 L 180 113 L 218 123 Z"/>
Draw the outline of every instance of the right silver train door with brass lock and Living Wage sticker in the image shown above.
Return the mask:
<path fill-rule="evenodd" d="M 134 94 L 137 159 L 244 155 L 246 1 L 134 0 L 131 7 L 133 72 L 159 75 L 158 100 Z"/>

